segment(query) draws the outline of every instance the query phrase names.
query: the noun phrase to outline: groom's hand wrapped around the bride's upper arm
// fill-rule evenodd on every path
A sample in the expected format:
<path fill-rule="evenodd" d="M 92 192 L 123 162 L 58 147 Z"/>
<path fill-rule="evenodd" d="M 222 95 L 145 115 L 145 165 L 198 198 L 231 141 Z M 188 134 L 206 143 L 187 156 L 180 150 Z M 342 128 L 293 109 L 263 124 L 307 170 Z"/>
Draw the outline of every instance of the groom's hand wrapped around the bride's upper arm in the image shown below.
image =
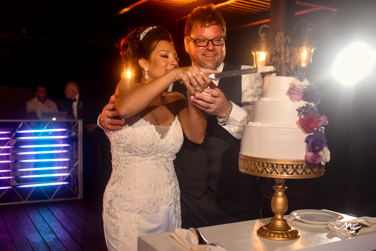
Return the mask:
<path fill-rule="evenodd" d="M 108 104 L 103 107 L 102 114 L 99 118 L 99 125 L 106 130 L 116 131 L 123 128 L 123 119 L 114 119 L 118 116 L 115 110 L 115 96 L 112 95 Z"/>

